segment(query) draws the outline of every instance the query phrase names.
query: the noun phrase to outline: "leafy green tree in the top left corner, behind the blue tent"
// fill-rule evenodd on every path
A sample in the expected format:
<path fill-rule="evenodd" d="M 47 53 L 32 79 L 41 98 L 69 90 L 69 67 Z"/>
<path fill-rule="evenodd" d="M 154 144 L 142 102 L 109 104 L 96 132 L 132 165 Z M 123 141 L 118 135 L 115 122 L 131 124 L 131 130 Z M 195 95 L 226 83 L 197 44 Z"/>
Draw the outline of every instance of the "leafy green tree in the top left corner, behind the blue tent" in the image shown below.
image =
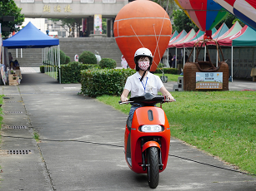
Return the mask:
<path fill-rule="evenodd" d="M 2 27 L 9 27 L 10 31 L 6 32 L 2 30 L 3 37 L 8 37 L 11 32 L 18 32 L 18 25 L 22 25 L 24 22 L 24 15 L 21 14 L 22 9 L 18 8 L 13 0 L 1 0 L 0 1 L 0 16 L 14 16 L 13 22 L 3 22 L 0 20 Z"/>

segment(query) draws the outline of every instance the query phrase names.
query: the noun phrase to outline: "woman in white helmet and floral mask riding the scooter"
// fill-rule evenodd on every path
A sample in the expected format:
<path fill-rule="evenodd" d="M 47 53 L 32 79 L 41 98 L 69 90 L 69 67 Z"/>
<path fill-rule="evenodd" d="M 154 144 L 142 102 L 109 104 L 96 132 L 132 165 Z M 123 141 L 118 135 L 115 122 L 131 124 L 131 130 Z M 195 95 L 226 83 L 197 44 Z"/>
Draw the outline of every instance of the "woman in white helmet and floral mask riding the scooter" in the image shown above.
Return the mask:
<path fill-rule="evenodd" d="M 158 95 L 158 91 L 161 91 L 163 96 L 167 100 L 174 101 L 173 96 L 166 90 L 163 86 L 163 82 L 160 80 L 159 76 L 153 75 L 149 72 L 152 66 L 153 56 L 148 48 L 139 48 L 134 55 L 134 61 L 136 65 L 136 73 L 129 76 L 126 84 L 123 88 L 123 93 L 121 95 L 121 101 L 128 101 L 128 94 L 131 91 L 131 97 L 142 96 L 146 92 L 150 92 L 154 95 Z M 133 120 L 133 113 L 140 105 L 132 105 L 129 112 L 129 119 Z"/>

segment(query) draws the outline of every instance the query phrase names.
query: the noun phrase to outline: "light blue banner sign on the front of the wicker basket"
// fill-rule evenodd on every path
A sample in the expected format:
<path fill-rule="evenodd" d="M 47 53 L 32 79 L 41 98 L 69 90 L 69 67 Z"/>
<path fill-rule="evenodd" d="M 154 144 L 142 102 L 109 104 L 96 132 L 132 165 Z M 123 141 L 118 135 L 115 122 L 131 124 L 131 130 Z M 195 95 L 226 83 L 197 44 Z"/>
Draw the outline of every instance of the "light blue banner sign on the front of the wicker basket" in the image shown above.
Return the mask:
<path fill-rule="evenodd" d="M 196 72 L 196 89 L 223 89 L 223 72 Z"/>

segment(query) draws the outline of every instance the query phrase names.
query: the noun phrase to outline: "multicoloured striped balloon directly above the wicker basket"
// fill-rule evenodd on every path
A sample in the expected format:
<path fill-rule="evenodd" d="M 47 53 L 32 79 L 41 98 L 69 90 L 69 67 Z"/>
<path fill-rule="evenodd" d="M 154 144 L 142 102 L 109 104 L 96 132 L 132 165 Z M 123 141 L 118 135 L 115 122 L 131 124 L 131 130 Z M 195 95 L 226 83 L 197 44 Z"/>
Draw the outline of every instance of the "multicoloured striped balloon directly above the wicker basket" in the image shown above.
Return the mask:
<path fill-rule="evenodd" d="M 175 0 L 175 2 L 203 32 L 212 30 L 228 14 L 213 0 Z"/>

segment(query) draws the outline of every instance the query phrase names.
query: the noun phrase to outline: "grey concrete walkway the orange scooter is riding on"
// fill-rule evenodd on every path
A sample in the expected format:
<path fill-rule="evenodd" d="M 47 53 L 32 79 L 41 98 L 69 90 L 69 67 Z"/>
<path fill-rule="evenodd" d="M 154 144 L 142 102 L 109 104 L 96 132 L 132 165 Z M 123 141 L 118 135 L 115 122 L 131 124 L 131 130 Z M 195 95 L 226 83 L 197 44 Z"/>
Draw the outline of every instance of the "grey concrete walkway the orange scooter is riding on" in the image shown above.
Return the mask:
<path fill-rule="evenodd" d="M 79 95 L 80 88 L 37 72 L 23 73 L 19 86 L 1 86 L 0 190 L 151 190 L 124 159 L 127 115 Z M 169 154 L 158 190 L 256 190 L 256 177 L 180 140 L 171 140 Z"/>

